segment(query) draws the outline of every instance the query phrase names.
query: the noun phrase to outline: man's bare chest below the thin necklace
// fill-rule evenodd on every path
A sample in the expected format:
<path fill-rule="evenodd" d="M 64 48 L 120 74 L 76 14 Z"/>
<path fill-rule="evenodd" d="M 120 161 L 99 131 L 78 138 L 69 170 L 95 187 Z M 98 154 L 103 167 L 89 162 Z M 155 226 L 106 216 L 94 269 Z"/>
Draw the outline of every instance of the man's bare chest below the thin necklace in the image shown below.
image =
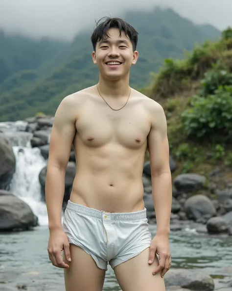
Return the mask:
<path fill-rule="evenodd" d="M 92 147 L 115 143 L 139 148 L 147 139 L 150 124 L 144 110 L 132 109 L 119 112 L 90 107 L 83 110 L 76 122 L 79 138 Z"/>

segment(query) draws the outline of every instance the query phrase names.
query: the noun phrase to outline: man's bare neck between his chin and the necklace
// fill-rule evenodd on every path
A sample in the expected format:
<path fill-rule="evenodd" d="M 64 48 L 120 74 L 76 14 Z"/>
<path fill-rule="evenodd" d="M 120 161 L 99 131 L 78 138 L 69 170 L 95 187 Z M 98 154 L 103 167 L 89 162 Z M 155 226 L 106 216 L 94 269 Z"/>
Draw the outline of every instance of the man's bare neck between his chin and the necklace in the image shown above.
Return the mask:
<path fill-rule="evenodd" d="M 99 77 L 97 84 L 101 95 L 109 97 L 126 97 L 130 93 L 129 77 L 119 80 L 109 80 Z"/>

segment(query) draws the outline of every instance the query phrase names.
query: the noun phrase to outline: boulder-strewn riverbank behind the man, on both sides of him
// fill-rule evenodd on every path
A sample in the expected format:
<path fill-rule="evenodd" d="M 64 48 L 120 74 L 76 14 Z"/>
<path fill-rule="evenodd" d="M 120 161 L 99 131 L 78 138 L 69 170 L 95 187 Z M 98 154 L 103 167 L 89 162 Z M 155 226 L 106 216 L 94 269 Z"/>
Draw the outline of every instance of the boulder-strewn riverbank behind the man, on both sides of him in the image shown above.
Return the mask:
<path fill-rule="evenodd" d="M 12 136 L 30 134 L 31 147 L 38 147 L 44 159 L 48 158 L 49 136 L 53 117 L 28 118 L 26 126 L 18 132 L 0 127 L 0 231 L 26 230 L 38 225 L 38 219 L 28 205 L 7 192 L 15 172 L 16 160 L 12 150 Z M 23 148 L 20 149 L 23 151 Z M 178 163 L 170 156 L 170 169 L 175 173 Z M 76 164 L 73 150 L 65 177 L 65 195 L 63 209 L 70 197 Z M 44 199 L 46 166 L 39 174 L 41 197 Z M 224 189 L 217 189 L 220 170 L 213 171 L 209 177 L 197 173 L 179 174 L 173 179 L 173 202 L 171 214 L 171 230 L 180 230 L 192 225 L 198 232 L 208 234 L 232 235 L 232 181 L 227 181 Z M 220 181 L 218 181 L 220 183 Z M 143 168 L 144 203 L 151 224 L 156 223 L 152 201 L 150 162 L 146 161 Z M 10 194 L 10 195 L 8 195 Z M 10 207 L 9 207 L 10 206 Z"/>

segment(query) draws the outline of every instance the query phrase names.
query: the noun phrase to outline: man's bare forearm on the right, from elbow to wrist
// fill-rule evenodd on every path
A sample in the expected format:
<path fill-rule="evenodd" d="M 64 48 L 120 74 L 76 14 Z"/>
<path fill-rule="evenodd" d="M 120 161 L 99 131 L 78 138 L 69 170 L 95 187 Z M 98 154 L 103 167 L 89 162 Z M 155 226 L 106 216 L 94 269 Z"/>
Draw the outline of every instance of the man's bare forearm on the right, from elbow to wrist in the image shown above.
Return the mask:
<path fill-rule="evenodd" d="M 152 196 L 156 212 L 157 234 L 169 235 L 172 207 L 172 182 L 170 172 L 152 176 Z"/>

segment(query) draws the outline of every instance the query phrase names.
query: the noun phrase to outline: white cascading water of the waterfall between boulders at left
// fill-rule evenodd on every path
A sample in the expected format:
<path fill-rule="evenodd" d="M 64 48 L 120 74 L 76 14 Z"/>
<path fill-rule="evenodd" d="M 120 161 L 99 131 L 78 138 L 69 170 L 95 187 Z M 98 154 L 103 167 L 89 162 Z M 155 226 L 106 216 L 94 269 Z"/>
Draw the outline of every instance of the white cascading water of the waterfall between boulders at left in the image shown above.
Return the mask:
<path fill-rule="evenodd" d="M 27 123 L 0 123 L 0 129 L 13 146 L 16 158 L 16 171 L 10 185 L 10 192 L 28 204 L 38 217 L 40 225 L 47 225 L 46 204 L 41 201 L 39 173 L 46 165 L 39 148 L 32 148 L 30 132 L 23 132 Z"/>

